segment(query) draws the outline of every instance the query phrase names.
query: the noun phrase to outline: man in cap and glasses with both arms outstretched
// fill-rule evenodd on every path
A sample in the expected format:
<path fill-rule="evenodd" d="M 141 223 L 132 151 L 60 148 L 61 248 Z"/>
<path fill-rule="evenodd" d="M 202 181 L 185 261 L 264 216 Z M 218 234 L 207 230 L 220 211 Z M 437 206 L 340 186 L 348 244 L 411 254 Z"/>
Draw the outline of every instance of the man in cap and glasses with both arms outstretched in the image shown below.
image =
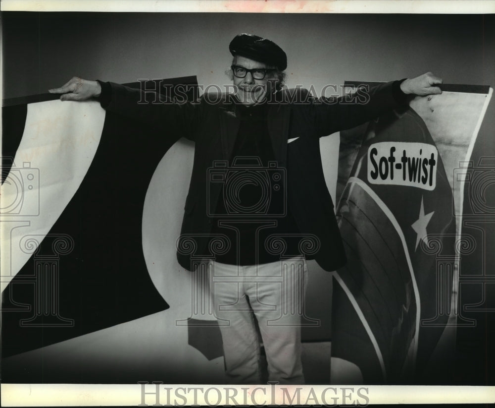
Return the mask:
<path fill-rule="evenodd" d="M 406 94 L 441 93 L 435 85 L 442 80 L 427 73 L 380 85 L 364 99 L 317 101 L 283 89 L 287 57 L 272 41 L 240 34 L 229 49 L 235 93 L 199 104 L 138 104 L 139 90 L 80 78 L 50 92 L 62 101 L 99 98 L 103 108 L 151 123 L 171 142 L 195 141 L 177 257 L 193 268 L 185 238 L 193 239 L 196 257 L 209 259 L 227 378 L 260 382 L 259 331 L 268 379 L 302 384 L 305 261 L 328 271 L 346 262 L 319 137 L 378 117 L 404 104 Z M 215 253 L 217 238 L 224 245 Z"/>

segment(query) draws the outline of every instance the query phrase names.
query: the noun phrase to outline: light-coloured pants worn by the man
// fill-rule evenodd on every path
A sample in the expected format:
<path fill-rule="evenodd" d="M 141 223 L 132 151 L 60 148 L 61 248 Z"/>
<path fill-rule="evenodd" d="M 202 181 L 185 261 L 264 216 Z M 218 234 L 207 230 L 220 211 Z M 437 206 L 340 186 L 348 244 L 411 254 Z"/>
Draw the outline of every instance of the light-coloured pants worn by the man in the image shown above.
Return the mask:
<path fill-rule="evenodd" d="M 268 381 L 304 384 L 300 317 L 307 266 L 292 258 L 253 266 L 212 262 L 210 286 L 222 333 L 227 381 L 259 384 L 260 340 L 268 362 Z"/>

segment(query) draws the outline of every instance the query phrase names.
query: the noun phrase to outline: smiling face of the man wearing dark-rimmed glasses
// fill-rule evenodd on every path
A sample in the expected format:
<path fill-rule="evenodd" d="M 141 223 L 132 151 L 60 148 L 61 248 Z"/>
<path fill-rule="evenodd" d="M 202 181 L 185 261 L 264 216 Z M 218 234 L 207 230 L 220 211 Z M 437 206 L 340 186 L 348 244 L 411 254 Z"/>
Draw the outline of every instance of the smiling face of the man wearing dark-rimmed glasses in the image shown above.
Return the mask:
<path fill-rule="evenodd" d="M 238 65 L 247 69 L 271 69 L 272 66 L 268 66 L 263 62 L 254 61 L 253 59 L 236 56 L 234 58 L 233 65 Z M 254 79 L 251 72 L 247 72 L 244 78 L 237 78 L 234 76 L 234 86 L 236 86 L 236 96 L 239 101 L 244 105 L 254 105 L 262 102 L 267 92 L 270 92 L 270 87 L 273 83 L 272 72 L 267 72 L 263 79 Z"/>

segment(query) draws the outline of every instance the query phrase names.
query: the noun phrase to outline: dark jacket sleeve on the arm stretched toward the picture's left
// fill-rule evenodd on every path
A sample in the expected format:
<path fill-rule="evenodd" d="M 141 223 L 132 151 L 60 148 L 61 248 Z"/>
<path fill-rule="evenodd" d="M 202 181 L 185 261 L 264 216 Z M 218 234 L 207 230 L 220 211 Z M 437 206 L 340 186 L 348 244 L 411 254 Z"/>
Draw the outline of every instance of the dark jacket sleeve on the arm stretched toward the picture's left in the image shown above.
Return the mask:
<path fill-rule="evenodd" d="M 113 82 L 100 82 L 101 106 L 124 117 L 136 119 L 175 140 L 194 140 L 199 123 L 200 106 L 195 103 L 151 103 L 139 89 Z"/>

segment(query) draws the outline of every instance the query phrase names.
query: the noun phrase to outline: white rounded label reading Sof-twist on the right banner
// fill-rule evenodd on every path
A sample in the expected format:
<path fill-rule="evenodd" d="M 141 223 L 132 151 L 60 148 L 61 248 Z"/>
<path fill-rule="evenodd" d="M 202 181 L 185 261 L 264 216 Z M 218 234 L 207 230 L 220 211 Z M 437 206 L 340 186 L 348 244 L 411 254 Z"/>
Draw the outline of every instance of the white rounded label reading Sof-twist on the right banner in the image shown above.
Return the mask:
<path fill-rule="evenodd" d="M 438 150 L 426 143 L 380 142 L 368 148 L 368 182 L 434 190 Z"/>

